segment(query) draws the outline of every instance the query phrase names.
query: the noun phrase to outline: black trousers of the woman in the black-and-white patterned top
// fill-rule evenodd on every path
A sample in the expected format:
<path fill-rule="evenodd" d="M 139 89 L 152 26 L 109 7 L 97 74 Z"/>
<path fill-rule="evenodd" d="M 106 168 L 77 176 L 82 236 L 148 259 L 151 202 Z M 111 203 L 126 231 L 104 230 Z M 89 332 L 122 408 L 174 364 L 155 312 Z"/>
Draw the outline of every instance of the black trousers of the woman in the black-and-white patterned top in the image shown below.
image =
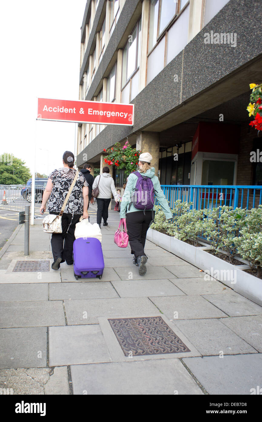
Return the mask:
<path fill-rule="evenodd" d="M 59 215 L 59 213 L 50 212 Z M 62 233 L 52 233 L 51 246 L 53 259 L 61 257 L 68 264 L 73 263 L 73 243 L 75 241 L 75 225 L 79 222 L 81 214 L 62 215 Z"/>

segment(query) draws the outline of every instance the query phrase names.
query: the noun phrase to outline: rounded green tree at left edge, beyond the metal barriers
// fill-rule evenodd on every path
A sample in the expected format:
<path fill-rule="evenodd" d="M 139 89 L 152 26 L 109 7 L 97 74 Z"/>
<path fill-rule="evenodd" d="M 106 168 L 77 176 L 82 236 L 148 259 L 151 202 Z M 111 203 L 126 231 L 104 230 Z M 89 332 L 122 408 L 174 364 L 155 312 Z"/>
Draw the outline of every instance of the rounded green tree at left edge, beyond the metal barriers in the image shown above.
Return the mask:
<path fill-rule="evenodd" d="M 0 155 L 0 184 L 26 184 L 31 172 L 24 164 L 13 154 Z"/>

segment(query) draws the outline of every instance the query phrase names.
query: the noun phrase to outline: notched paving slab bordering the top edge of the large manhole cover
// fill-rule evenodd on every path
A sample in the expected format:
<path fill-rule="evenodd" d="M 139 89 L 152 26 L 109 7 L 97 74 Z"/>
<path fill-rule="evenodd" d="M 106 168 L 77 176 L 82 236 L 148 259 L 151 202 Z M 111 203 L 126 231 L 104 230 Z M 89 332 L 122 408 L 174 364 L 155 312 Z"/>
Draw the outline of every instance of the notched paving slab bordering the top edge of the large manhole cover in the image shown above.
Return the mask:
<path fill-rule="evenodd" d="M 68 325 L 98 324 L 97 317 L 155 317 L 158 309 L 148 298 L 65 300 Z"/>

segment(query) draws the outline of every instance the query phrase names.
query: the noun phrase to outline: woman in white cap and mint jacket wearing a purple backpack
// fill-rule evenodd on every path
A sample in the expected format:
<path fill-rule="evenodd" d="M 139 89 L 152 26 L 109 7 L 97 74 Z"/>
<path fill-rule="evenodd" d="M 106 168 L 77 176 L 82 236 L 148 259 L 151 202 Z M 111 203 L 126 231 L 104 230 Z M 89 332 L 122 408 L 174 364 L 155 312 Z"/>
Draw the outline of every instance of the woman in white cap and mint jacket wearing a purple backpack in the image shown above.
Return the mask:
<path fill-rule="evenodd" d="M 131 254 L 134 254 L 133 264 L 139 267 L 140 276 L 144 276 L 147 272 L 144 245 L 147 230 L 155 216 L 155 197 L 166 219 L 172 219 L 168 202 L 160 187 L 158 177 L 155 176 L 155 168 L 150 166 L 151 161 L 152 155 L 149 152 L 139 155 L 139 170 L 128 176 L 120 208 L 120 218 L 126 220 Z"/>

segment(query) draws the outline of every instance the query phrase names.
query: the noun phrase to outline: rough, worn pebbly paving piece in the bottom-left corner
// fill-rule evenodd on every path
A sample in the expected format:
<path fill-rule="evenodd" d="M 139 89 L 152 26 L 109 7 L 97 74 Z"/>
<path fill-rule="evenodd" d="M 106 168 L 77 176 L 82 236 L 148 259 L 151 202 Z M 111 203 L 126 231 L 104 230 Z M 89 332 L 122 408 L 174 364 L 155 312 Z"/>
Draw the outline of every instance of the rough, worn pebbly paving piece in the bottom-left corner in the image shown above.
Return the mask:
<path fill-rule="evenodd" d="M 0 387 L 12 389 L 13 395 L 44 395 L 51 368 L 0 370 Z"/>

